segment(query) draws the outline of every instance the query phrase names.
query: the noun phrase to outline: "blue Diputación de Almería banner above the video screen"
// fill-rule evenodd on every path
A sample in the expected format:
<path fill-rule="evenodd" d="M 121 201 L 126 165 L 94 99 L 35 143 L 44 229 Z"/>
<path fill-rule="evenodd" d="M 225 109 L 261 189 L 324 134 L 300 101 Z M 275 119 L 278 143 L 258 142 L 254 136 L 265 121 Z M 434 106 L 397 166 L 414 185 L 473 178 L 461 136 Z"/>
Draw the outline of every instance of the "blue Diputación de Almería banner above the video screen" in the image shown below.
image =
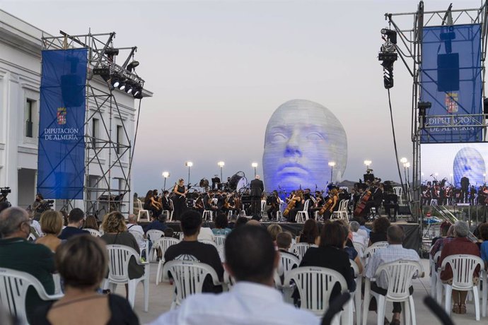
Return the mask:
<path fill-rule="evenodd" d="M 480 25 L 425 27 L 420 101 L 426 110 L 422 143 L 482 141 Z"/>

